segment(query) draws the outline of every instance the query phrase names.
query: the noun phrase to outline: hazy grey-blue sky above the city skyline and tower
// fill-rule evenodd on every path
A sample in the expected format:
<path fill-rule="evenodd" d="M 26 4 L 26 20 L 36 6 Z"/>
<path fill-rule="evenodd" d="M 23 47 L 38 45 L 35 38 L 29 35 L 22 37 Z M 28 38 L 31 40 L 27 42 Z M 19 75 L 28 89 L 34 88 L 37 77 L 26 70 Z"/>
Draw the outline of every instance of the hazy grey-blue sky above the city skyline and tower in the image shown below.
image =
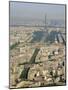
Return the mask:
<path fill-rule="evenodd" d="M 28 20 L 65 20 L 65 5 L 10 2 L 10 24 L 22 24 Z"/>

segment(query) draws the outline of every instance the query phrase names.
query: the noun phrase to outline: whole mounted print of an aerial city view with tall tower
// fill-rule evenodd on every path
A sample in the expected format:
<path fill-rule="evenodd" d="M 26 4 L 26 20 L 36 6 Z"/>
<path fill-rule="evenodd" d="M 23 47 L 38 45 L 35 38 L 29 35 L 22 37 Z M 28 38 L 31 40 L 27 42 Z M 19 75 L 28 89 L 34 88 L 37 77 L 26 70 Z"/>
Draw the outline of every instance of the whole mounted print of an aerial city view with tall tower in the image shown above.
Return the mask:
<path fill-rule="evenodd" d="M 9 4 L 10 88 L 66 85 L 65 5 Z"/>

